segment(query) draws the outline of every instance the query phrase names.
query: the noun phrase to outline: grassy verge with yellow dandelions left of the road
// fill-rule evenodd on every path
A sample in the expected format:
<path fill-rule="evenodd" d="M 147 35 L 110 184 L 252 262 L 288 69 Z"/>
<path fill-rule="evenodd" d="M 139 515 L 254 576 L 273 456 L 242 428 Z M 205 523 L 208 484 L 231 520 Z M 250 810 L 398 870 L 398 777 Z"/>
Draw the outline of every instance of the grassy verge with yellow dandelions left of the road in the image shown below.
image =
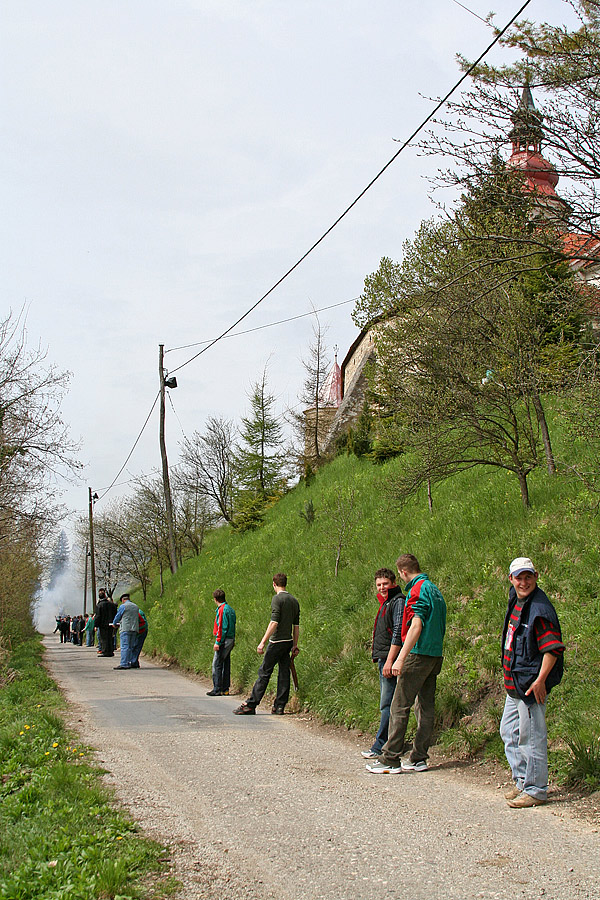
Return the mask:
<path fill-rule="evenodd" d="M 0 667 L 1 900 L 136 900 L 172 892 L 147 840 L 58 714 L 39 638 Z"/>

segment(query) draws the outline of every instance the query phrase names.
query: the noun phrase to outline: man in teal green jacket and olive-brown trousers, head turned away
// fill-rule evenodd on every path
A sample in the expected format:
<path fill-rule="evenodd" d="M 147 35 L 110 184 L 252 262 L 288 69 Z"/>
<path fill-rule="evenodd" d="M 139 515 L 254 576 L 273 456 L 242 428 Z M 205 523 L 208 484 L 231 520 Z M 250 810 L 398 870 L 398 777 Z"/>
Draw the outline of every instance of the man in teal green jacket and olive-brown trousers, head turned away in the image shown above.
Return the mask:
<path fill-rule="evenodd" d="M 394 635 L 386 660 L 386 667 L 391 665 L 392 674 L 398 678 L 390 710 L 388 739 L 379 759 L 367 765 L 369 772 L 376 775 L 427 771 L 433 734 L 435 688 L 442 669 L 446 633 L 446 603 L 439 588 L 421 572 L 417 558 L 405 553 L 398 558 L 396 565 L 400 578 L 406 584 L 407 594 L 400 639 Z M 417 731 L 410 756 L 402 759 L 413 703 Z"/>

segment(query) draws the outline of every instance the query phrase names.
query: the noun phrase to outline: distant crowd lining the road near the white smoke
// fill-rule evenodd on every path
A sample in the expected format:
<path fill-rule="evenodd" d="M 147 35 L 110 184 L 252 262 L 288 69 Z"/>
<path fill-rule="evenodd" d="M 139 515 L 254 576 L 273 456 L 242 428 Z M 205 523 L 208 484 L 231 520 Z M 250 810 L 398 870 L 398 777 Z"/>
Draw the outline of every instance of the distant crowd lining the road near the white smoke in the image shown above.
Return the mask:
<path fill-rule="evenodd" d="M 98 591 L 98 604 L 94 615 L 57 616 L 54 634 L 60 634 L 61 644 L 75 646 L 98 645 L 98 656 L 114 656 L 117 635 L 120 643 L 120 661 L 115 669 L 139 669 L 140 653 L 148 634 L 148 620 L 142 610 L 133 603 L 129 594 L 121 594 L 119 606 L 108 592 Z"/>

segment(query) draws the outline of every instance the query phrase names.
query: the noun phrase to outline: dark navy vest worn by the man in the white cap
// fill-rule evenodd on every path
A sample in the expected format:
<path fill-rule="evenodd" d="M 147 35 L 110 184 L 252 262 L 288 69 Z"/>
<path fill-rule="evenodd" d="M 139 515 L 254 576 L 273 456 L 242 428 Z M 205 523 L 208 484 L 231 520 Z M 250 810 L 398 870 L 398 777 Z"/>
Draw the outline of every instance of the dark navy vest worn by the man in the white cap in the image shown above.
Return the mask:
<path fill-rule="evenodd" d="M 517 601 L 517 594 L 514 587 L 511 587 L 508 594 L 508 612 L 504 620 L 504 631 L 502 632 L 502 653 L 506 644 L 506 633 L 510 623 L 510 617 Z M 512 641 L 512 660 L 510 670 L 512 672 L 515 690 L 521 700 L 532 706 L 536 699 L 533 693 L 528 697 L 525 692 L 531 687 L 537 676 L 539 675 L 542 665 L 543 653 L 540 652 L 537 639 L 535 636 L 534 623 L 537 618 L 545 619 L 550 622 L 560 634 L 560 622 L 556 615 L 556 610 L 550 603 L 546 594 L 536 587 L 534 591 L 527 597 L 521 610 L 521 615 L 515 627 L 515 633 Z M 562 640 L 562 635 L 561 635 Z M 556 654 L 556 662 L 546 679 L 546 690 L 550 692 L 553 687 L 559 684 L 563 675 L 563 654 Z"/>

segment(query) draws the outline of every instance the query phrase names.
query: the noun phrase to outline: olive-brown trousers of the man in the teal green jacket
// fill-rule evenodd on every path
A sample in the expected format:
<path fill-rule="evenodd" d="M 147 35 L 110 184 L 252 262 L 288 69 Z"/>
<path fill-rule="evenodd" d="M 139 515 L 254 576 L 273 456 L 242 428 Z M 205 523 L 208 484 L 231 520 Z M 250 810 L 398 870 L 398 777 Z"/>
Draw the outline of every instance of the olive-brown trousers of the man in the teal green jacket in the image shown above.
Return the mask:
<path fill-rule="evenodd" d="M 413 703 L 417 732 L 410 760 L 415 763 L 427 759 L 435 716 L 435 686 L 437 676 L 442 670 L 442 660 L 441 656 L 409 653 L 398 676 L 390 708 L 388 739 L 381 751 L 380 759 L 386 765 L 397 764 L 402 756 L 408 717 Z"/>

